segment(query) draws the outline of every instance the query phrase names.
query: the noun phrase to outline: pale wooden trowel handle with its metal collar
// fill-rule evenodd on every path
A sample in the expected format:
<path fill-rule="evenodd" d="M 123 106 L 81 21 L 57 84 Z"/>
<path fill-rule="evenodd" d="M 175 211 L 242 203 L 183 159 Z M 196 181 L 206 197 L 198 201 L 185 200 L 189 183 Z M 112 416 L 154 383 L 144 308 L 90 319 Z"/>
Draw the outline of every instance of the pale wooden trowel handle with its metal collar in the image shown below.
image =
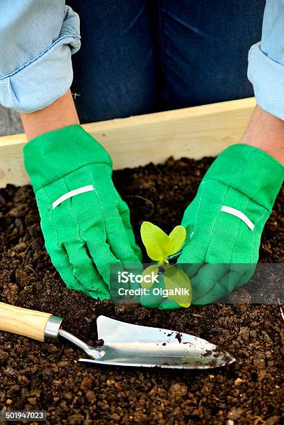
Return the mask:
<path fill-rule="evenodd" d="M 53 342 L 57 339 L 61 322 L 60 317 L 49 313 L 0 303 L 0 331 Z"/>

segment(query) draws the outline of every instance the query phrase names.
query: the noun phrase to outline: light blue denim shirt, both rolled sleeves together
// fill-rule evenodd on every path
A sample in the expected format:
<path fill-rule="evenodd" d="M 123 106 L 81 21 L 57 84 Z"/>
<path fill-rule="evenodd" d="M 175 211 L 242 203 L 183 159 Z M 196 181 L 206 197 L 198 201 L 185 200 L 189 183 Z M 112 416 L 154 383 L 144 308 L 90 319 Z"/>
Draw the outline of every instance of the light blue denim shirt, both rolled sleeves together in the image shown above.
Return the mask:
<path fill-rule="evenodd" d="M 258 104 L 284 119 L 284 0 L 267 0 L 262 40 L 249 51 Z M 80 48 L 78 15 L 64 0 L 1 0 L 0 103 L 19 112 L 44 108 L 72 83 Z"/>

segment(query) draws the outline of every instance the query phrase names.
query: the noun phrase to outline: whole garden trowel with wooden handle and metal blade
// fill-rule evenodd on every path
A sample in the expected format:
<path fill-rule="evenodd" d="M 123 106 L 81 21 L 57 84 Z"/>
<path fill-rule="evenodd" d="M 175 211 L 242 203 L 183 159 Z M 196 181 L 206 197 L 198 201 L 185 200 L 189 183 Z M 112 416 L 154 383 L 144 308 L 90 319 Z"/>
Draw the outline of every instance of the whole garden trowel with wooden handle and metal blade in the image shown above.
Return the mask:
<path fill-rule="evenodd" d="M 62 318 L 0 303 L 0 330 L 42 342 L 63 338 L 87 354 L 83 363 L 114 366 L 209 369 L 233 363 L 235 358 L 214 344 L 187 333 L 97 318 L 101 344 L 90 347 L 61 328 Z"/>

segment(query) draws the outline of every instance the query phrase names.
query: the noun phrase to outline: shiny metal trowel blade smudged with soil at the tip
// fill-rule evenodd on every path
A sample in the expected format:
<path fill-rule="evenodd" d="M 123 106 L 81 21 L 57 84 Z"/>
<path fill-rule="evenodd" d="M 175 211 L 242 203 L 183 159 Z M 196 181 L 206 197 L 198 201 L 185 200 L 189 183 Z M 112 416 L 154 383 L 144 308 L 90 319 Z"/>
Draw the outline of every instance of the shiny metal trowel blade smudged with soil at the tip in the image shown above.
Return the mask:
<path fill-rule="evenodd" d="M 99 358 L 80 362 L 113 366 L 210 369 L 230 365 L 231 354 L 215 344 L 187 333 L 97 318 L 98 338 L 103 340 Z"/>

